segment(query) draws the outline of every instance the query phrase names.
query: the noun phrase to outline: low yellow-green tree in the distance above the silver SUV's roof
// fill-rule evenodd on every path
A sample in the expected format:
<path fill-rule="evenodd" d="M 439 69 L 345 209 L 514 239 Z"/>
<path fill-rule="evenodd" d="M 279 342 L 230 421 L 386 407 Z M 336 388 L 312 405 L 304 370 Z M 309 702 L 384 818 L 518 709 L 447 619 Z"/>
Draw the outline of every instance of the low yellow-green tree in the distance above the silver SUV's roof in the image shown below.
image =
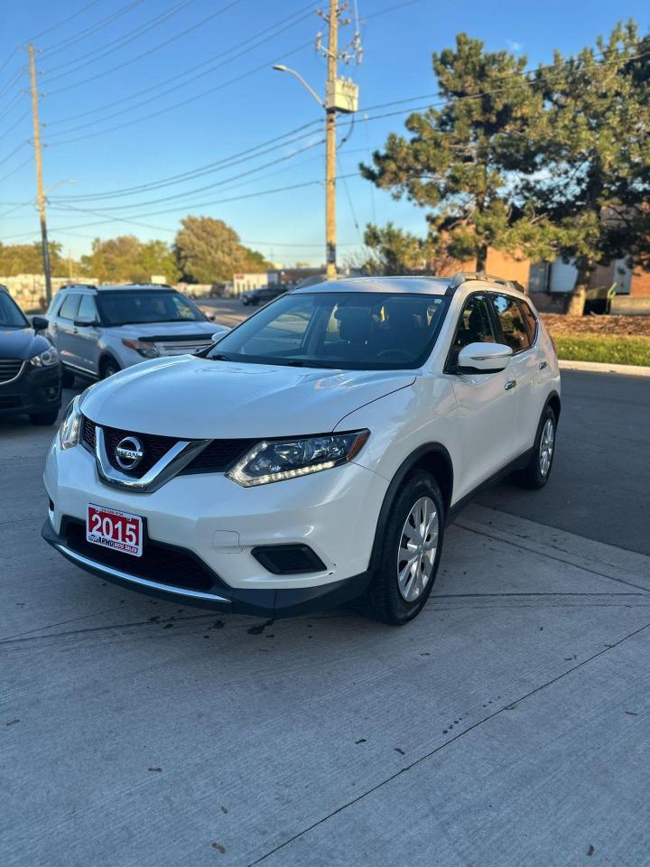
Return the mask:
<path fill-rule="evenodd" d="M 179 276 L 172 250 L 164 241 L 144 244 L 135 235 L 105 241 L 95 238 L 90 255 L 81 256 L 81 265 L 101 283 L 147 283 L 154 274 L 175 283 Z"/>

